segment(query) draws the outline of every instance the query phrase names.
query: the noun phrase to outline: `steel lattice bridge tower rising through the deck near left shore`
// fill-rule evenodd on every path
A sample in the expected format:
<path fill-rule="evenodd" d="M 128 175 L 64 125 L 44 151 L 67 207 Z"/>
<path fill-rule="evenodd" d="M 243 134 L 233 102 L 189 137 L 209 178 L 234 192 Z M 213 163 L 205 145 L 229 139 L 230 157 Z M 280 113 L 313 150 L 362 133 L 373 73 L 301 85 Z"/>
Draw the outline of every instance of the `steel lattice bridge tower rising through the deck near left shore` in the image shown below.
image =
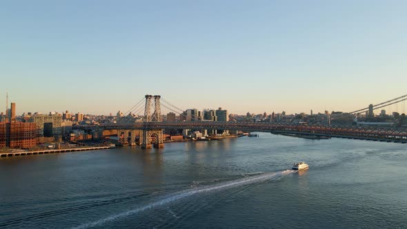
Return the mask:
<path fill-rule="evenodd" d="M 144 110 L 144 123 L 162 121 L 159 95 L 146 94 L 146 107 Z M 151 148 L 151 139 L 155 137 L 154 148 L 164 148 L 163 129 L 150 130 L 144 125 L 141 137 L 141 148 Z"/>

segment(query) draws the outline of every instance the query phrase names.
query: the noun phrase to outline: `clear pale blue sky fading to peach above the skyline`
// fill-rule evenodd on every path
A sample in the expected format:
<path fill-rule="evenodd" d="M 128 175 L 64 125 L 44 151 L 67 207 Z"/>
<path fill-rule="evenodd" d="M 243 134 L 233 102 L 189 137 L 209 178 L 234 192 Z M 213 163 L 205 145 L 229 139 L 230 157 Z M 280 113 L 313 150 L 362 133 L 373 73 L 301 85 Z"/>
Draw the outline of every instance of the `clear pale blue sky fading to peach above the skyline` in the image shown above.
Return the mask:
<path fill-rule="evenodd" d="M 407 1 L 1 1 L 0 104 L 350 111 L 407 94 Z M 1 108 L 0 110 L 5 110 Z"/>

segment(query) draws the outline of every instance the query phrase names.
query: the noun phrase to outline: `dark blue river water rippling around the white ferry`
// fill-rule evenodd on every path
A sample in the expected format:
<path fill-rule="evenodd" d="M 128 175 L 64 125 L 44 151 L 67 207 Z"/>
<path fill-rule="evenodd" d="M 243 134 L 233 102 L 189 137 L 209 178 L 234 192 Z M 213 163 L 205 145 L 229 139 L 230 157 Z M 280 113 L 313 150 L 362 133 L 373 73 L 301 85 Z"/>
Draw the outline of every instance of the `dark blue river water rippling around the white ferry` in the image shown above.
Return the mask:
<path fill-rule="evenodd" d="M 2 158 L 0 228 L 407 228 L 407 144 L 259 135 Z"/>

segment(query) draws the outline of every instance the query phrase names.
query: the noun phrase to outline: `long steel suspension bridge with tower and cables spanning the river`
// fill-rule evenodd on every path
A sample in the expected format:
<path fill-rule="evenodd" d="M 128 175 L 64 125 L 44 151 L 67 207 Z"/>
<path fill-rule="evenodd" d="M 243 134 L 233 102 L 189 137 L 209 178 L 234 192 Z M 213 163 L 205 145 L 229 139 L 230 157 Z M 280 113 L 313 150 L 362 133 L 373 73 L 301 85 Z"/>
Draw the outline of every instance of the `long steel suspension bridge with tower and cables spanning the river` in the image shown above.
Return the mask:
<path fill-rule="evenodd" d="M 407 100 L 407 94 L 368 108 L 350 112 L 372 112 L 372 110 L 391 106 Z M 163 121 L 161 107 L 179 115 L 179 121 Z M 141 115 L 140 113 L 143 112 Z M 103 130 L 117 130 L 119 142 L 123 145 L 139 144 L 141 148 L 163 148 L 163 130 L 241 130 L 247 132 L 270 132 L 273 134 L 312 135 L 317 137 L 340 137 L 407 143 L 407 128 L 381 128 L 361 126 L 304 125 L 301 123 L 205 121 L 192 119 L 187 121 L 185 110 L 172 105 L 159 95 L 147 94 L 126 114 L 140 115 L 139 121 L 131 123 L 109 123 L 99 126 Z"/>

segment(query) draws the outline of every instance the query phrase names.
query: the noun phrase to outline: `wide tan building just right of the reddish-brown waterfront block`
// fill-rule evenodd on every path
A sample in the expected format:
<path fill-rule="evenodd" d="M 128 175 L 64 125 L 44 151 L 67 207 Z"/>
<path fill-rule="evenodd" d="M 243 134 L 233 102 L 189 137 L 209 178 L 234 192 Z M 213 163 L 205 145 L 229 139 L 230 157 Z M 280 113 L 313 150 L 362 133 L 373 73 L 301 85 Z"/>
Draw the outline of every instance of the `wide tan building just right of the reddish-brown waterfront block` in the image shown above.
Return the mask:
<path fill-rule="evenodd" d="M 41 137 L 61 137 L 62 117 L 60 114 L 43 115 L 36 114 L 30 117 L 30 122 L 35 123 L 39 129 L 39 135 Z"/>

